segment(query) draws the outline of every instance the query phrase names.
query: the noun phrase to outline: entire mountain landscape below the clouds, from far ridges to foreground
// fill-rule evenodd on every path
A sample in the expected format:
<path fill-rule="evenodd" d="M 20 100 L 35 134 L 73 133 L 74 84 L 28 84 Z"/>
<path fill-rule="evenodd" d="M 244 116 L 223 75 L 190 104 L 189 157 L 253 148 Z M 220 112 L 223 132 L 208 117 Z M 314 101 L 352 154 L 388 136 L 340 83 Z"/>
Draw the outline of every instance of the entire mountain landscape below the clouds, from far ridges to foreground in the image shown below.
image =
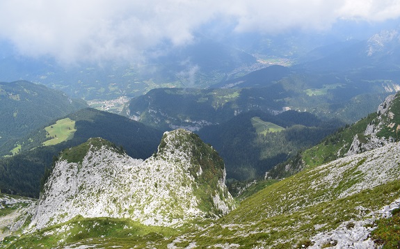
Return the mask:
<path fill-rule="evenodd" d="M 0 248 L 399 247 L 399 38 L 269 67 L 200 34 L 146 65 L 3 56 L 3 77 L 131 99 L 0 84 Z"/>

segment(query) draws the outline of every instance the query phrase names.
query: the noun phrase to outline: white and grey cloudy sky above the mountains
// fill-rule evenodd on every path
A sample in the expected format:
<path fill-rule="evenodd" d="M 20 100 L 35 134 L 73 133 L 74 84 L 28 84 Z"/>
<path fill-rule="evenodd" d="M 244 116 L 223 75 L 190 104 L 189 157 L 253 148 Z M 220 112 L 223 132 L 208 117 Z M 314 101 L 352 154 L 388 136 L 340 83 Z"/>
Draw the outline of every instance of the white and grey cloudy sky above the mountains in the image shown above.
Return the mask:
<path fill-rule="evenodd" d="M 399 17 L 400 0 L 4 0 L 0 39 L 19 54 L 69 63 L 131 59 L 159 42 L 185 45 L 205 26 L 276 34 Z"/>

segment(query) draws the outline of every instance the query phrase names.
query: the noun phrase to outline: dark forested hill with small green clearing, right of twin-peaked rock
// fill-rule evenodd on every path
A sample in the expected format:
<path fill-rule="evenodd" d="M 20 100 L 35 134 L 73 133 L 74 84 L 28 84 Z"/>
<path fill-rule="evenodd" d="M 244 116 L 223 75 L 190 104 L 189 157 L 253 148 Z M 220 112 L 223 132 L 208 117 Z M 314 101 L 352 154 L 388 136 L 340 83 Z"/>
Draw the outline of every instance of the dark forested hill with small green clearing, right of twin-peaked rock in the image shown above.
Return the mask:
<path fill-rule="evenodd" d="M 298 111 L 278 115 L 250 111 L 227 122 L 203 127 L 198 134 L 221 154 L 228 179 L 246 180 L 264 177 L 276 164 L 319 143 L 337 125 Z"/>

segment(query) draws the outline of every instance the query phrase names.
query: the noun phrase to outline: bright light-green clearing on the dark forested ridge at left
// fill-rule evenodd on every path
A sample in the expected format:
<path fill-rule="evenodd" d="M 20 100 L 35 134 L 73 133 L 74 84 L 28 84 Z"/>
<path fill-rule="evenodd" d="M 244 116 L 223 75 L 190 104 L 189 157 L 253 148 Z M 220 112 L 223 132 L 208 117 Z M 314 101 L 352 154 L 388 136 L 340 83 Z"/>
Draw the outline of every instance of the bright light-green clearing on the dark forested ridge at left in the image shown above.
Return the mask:
<path fill-rule="evenodd" d="M 50 125 L 45 128 L 47 131 L 47 138 L 51 138 L 43 143 L 45 146 L 56 145 L 66 140 L 70 140 L 74 137 L 75 121 L 70 118 L 64 118 L 58 120 L 56 124 Z"/>

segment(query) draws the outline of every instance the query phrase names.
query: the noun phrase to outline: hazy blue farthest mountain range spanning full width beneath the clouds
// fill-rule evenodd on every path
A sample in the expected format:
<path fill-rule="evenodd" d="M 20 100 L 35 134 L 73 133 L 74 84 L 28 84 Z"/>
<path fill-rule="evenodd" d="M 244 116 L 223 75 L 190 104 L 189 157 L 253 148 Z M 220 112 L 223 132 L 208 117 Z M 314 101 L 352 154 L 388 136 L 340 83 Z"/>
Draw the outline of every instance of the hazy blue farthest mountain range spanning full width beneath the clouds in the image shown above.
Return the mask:
<path fill-rule="evenodd" d="M 184 49 L 167 49 L 160 45 L 154 51 L 147 51 L 143 55 L 147 57 L 147 61 L 141 63 L 80 63 L 67 67 L 58 65 L 50 58 L 15 58 L 10 53 L 3 52 L 0 59 L 0 80 L 15 81 L 23 75 L 25 80 L 63 90 L 67 95 L 86 100 L 117 99 L 121 95 L 138 97 L 153 88 L 162 87 L 235 86 L 239 82 L 236 78 L 260 69 L 260 72 L 253 74 L 253 77 L 258 74 L 257 82 L 248 83 L 246 79 L 246 83 L 238 83 L 237 86 L 263 86 L 262 82 L 279 81 L 287 75 L 287 71 L 291 71 L 289 74 L 311 74 L 312 77 L 317 77 L 318 86 L 310 88 L 323 88 L 324 85 L 335 83 L 346 84 L 349 80 L 375 88 L 380 88 L 381 83 L 398 85 L 397 29 L 383 30 L 362 40 L 312 38 L 314 45 L 309 43 L 300 48 L 298 42 L 301 40 L 307 38 L 296 38 L 295 35 L 291 38 L 257 37 L 250 42 L 253 43 L 252 46 L 248 46 L 249 40 L 246 40 L 247 45 L 239 41 L 236 45 L 230 45 L 232 40 L 218 42 L 199 33 L 195 35 L 191 45 Z M 297 46 L 294 46 L 296 43 Z M 280 46 L 284 44 L 285 51 L 280 51 Z M 3 47 L 7 50 L 6 46 Z M 260 49 L 262 47 L 265 49 Z M 291 67 L 289 70 L 278 67 L 264 69 L 271 64 Z M 273 72 L 265 77 L 263 71 Z M 334 74 L 340 80 L 335 83 L 320 81 L 319 77 L 324 74 Z M 371 84 L 370 81 L 379 82 Z M 355 91 L 354 88 L 351 90 Z"/>

